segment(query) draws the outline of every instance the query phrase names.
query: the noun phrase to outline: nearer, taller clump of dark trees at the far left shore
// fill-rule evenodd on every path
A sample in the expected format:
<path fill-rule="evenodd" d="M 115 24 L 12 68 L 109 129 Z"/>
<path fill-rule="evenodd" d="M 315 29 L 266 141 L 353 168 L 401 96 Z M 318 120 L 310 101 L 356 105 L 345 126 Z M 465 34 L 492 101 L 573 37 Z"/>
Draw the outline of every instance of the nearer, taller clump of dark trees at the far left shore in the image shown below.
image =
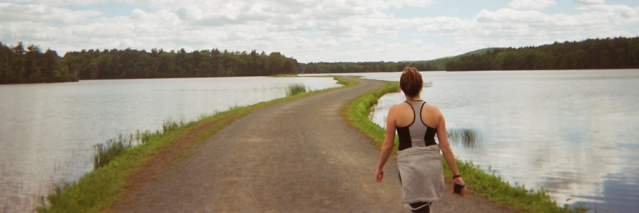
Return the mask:
<path fill-rule="evenodd" d="M 58 53 L 47 49 L 44 53 L 36 45 L 24 49 L 22 42 L 8 47 L 0 42 L 0 84 L 77 82 L 75 73 Z"/>

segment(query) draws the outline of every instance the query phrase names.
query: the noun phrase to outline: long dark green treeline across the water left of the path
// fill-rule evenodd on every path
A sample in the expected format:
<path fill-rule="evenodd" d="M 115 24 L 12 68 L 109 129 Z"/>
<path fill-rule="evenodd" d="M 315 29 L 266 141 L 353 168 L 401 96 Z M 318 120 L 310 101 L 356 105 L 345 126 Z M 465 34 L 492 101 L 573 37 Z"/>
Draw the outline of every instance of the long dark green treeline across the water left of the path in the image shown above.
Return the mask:
<path fill-rule="evenodd" d="M 162 49 L 82 50 L 65 57 L 36 45 L 24 50 L 0 43 L 0 84 L 71 82 L 90 79 L 244 77 L 296 74 L 300 64 L 279 52 Z"/>

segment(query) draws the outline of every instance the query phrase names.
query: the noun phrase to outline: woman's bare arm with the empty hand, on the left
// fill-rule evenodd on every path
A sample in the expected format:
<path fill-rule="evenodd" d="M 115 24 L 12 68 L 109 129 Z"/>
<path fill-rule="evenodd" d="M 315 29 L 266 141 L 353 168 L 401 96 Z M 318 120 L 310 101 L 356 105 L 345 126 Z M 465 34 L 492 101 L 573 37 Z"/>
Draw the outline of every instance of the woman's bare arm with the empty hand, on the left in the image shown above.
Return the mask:
<path fill-rule="evenodd" d="M 375 170 L 375 179 L 377 182 L 383 182 L 384 178 L 384 165 L 389 160 L 390 152 L 395 147 L 395 131 L 396 131 L 396 116 L 394 110 L 395 106 L 390 107 L 389 115 L 386 117 L 386 133 L 384 142 L 381 144 L 380 161 L 377 163 L 377 169 Z"/>

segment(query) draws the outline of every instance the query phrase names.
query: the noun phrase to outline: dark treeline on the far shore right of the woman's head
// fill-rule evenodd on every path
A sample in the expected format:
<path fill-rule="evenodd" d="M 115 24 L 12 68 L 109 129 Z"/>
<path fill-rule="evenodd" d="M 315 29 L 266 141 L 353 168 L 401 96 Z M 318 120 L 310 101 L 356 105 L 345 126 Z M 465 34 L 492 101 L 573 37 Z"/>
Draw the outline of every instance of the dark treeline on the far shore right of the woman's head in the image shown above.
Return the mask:
<path fill-rule="evenodd" d="M 555 42 L 539 47 L 494 48 L 455 57 L 447 71 L 587 70 L 639 68 L 639 37 Z"/>

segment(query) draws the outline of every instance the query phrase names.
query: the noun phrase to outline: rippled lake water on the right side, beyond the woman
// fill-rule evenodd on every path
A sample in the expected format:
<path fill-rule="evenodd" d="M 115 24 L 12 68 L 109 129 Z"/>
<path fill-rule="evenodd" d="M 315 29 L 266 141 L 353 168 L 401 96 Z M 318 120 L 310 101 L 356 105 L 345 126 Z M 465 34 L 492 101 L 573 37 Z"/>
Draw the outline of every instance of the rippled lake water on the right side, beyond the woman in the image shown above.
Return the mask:
<path fill-rule="evenodd" d="M 398 81 L 401 73 L 353 73 Z M 422 72 L 422 99 L 447 128 L 457 158 L 489 166 L 512 184 L 544 187 L 557 203 L 639 212 L 639 70 Z M 380 126 L 401 93 L 383 96 Z"/>

